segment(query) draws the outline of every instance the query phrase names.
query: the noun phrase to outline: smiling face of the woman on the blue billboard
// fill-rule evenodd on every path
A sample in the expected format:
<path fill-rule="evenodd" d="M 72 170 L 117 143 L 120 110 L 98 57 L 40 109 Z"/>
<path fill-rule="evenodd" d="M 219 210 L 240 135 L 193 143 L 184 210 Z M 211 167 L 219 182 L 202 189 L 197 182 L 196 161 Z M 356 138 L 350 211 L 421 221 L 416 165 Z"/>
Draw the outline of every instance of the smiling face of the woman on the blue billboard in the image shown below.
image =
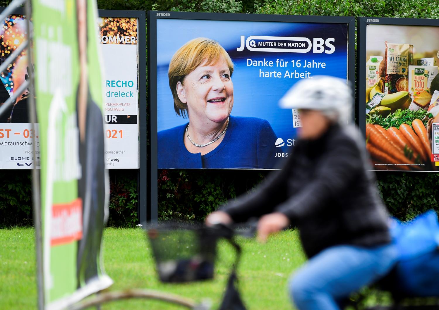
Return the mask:
<path fill-rule="evenodd" d="M 187 104 L 191 121 L 225 121 L 233 107 L 233 82 L 226 60 L 202 64 L 176 85 L 178 98 Z"/>

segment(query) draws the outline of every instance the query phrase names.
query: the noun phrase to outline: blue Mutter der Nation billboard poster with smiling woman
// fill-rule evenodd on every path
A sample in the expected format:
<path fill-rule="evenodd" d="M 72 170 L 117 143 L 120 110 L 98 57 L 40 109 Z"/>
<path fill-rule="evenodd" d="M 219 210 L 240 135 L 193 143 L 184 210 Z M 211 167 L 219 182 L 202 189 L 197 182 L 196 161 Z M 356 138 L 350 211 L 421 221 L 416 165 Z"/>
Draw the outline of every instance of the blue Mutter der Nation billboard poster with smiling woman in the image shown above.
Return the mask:
<path fill-rule="evenodd" d="M 347 79 L 348 25 L 158 18 L 156 52 L 158 168 L 272 169 L 301 126 L 278 101 Z"/>

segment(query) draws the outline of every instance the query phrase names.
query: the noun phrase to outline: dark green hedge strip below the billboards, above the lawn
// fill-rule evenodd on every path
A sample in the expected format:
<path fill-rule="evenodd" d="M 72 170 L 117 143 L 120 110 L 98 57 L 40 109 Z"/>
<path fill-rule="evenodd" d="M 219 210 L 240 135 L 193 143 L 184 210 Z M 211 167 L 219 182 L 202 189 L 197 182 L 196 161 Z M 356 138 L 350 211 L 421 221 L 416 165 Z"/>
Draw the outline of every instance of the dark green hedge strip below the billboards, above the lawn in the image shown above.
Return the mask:
<path fill-rule="evenodd" d="M 267 171 L 158 171 L 160 220 L 202 220 L 237 195 L 251 191 Z M 29 171 L 0 171 L 0 227 L 32 224 Z M 377 173 L 379 193 L 389 212 L 410 220 L 429 209 L 439 212 L 439 175 L 425 172 Z M 110 171 L 110 226 L 137 222 L 137 172 Z"/>

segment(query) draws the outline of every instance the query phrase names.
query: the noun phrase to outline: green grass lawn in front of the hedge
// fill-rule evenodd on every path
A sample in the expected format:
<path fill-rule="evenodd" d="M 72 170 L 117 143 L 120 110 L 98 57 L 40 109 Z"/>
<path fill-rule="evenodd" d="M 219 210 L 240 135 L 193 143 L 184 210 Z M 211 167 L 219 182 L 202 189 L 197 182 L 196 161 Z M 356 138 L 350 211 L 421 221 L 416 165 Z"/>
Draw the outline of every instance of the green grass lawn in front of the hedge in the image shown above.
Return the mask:
<path fill-rule="evenodd" d="M 239 239 L 243 247 L 238 268 L 241 295 L 248 309 L 291 309 L 287 281 L 305 256 L 296 231 L 273 236 L 266 244 Z M 201 301 L 210 299 L 212 309 L 219 305 L 234 250 L 219 244 L 216 275 L 212 281 L 189 284 L 163 284 L 157 280 L 148 242 L 140 228 L 107 228 L 104 231 L 104 265 L 114 280 L 110 290 L 155 289 Z M 34 231 L 32 228 L 0 230 L 0 303 L 2 309 L 36 307 Z M 145 299 L 107 303 L 103 309 L 183 309 Z"/>

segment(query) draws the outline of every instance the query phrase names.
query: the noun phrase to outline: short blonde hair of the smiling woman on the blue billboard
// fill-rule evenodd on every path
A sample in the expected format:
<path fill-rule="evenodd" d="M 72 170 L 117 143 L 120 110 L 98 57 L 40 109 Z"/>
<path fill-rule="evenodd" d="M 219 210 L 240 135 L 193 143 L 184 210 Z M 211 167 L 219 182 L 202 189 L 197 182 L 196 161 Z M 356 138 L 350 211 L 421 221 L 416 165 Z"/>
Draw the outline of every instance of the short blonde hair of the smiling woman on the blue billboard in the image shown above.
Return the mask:
<path fill-rule="evenodd" d="M 181 82 L 192 71 L 202 64 L 215 64 L 221 57 L 226 60 L 230 77 L 233 73 L 233 62 L 223 46 L 207 38 L 196 38 L 181 46 L 169 63 L 169 88 L 174 98 L 175 113 L 184 118 L 187 116 L 187 104 L 181 102 L 177 94 L 177 83 Z"/>

